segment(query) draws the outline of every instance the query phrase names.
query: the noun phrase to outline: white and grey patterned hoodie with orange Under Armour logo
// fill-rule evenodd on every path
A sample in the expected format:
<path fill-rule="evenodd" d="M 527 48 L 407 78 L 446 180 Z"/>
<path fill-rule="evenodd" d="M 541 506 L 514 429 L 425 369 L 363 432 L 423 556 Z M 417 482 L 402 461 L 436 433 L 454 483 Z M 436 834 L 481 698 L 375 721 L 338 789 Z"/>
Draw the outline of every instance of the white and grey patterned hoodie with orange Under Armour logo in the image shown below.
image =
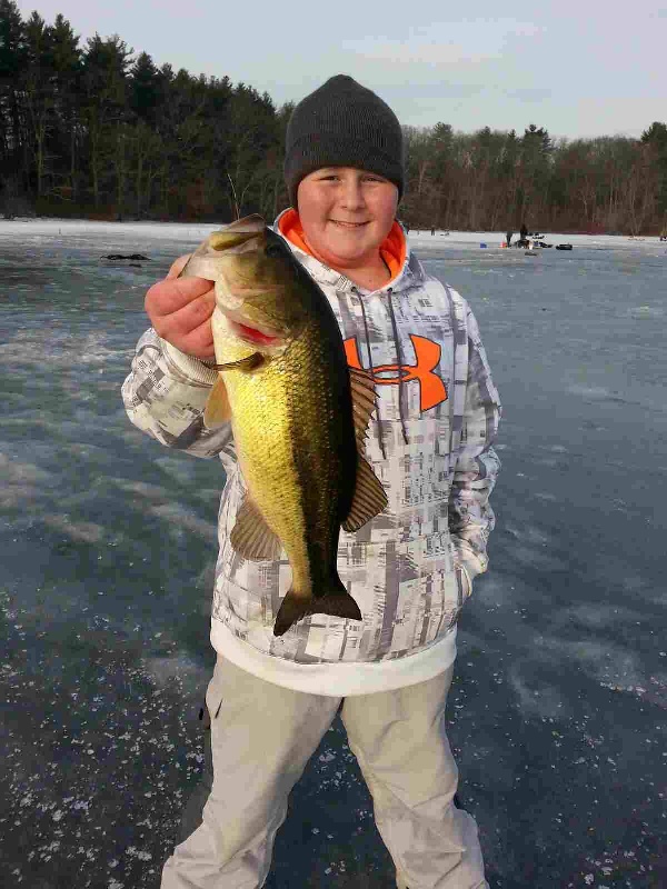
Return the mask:
<path fill-rule="evenodd" d="M 169 448 L 218 456 L 225 467 L 213 648 L 256 676 L 311 693 L 384 691 L 446 670 L 456 657 L 459 612 L 488 565 L 500 400 L 466 300 L 428 276 L 395 229 L 402 268 L 372 292 L 288 240 L 329 298 L 348 363 L 376 379 L 366 453 L 389 502 L 358 532 L 341 531 L 338 549 L 339 576 L 362 621 L 313 615 L 273 636 L 290 568 L 286 553 L 252 562 L 229 543 L 246 486 L 231 429 L 203 426 L 216 371 L 150 329 L 122 387 L 135 426 Z"/>

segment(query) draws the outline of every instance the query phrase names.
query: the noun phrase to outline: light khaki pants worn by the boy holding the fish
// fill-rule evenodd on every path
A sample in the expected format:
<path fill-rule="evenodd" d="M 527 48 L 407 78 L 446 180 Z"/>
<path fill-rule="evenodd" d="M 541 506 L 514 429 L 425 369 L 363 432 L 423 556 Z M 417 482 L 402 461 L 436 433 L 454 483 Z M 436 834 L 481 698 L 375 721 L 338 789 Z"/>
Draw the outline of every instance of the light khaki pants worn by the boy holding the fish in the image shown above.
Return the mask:
<path fill-rule="evenodd" d="M 342 699 L 398 889 L 488 889 L 475 820 L 452 803 L 458 770 L 445 733 L 452 672 Z M 206 700 L 212 788 L 201 825 L 165 863 L 161 889 L 260 889 L 289 792 L 341 698 L 275 686 L 218 658 Z"/>

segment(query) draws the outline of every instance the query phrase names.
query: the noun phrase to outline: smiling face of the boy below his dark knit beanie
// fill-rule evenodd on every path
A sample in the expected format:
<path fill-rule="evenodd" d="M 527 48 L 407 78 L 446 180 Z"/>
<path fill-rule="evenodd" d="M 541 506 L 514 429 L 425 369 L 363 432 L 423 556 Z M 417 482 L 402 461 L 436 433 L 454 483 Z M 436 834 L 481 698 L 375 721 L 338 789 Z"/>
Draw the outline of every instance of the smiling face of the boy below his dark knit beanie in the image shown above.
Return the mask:
<path fill-rule="evenodd" d="M 398 189 L 377 173 L 322 167 L 299 182 L 299 218 L 316 257 L 334 269 L 377 264 L 396 217 Z"/>

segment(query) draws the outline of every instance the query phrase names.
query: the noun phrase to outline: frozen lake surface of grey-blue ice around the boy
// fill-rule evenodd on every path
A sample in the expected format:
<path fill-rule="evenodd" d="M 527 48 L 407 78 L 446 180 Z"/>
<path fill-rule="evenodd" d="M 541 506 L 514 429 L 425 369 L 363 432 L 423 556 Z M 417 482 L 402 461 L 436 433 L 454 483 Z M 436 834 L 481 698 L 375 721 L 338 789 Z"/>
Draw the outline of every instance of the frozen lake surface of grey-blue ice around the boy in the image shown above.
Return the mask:
<path fill-rule="evenodd" d="M 213 228 L 0 221 L 2 886 L 157 889 L 201 770 L 222 471 L 131 427 L 120 386 L 146 290 Z M 665 887 L 667 244 L 410 240 L 504 404 L 448 713 L 490 886 Z M 394 886 L 338 718 L 266 883 L 320 885 Z"/>

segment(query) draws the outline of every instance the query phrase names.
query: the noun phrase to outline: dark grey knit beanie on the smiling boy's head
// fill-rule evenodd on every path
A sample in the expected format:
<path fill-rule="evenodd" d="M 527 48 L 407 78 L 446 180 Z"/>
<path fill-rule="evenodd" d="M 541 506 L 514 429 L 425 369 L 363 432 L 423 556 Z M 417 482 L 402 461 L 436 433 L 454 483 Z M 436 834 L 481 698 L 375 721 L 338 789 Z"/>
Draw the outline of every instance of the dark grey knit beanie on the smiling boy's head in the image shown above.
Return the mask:
<path fill-rule="evenodd" d="M 292 111 L 285 144 L 285 181 L 292 207 L 305 176 L 320 167 L 356 167 L 404 191 L 404 140 L 394 111 L 347 74 L 329 78 Z"/>

